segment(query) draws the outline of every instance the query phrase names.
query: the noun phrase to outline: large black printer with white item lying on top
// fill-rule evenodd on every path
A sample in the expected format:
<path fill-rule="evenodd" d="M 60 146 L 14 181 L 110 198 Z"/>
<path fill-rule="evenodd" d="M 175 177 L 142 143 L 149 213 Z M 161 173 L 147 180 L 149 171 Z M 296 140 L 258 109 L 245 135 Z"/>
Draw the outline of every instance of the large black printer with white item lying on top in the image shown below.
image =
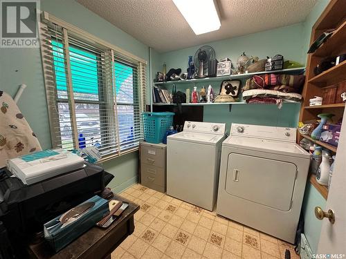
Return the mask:
<path fill-rule="evenodd" d="M 26 185 L 7 168 L 0 169 L 0 236 L 6 231 L 13 251 L 24 251 L 28 240 L 43 231 L 44 223 L 102 193 L 113 177 L 100 166 L 85 163 L 80 169 Z M 7 258 L 1 250 L 0 258 Z"/>

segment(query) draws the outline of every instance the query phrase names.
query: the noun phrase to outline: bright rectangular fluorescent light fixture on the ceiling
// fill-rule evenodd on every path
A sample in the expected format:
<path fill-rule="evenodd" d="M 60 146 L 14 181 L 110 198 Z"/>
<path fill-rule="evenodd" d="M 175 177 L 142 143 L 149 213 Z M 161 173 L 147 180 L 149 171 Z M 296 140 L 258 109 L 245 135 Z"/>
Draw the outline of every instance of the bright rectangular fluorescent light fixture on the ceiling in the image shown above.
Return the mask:
<path fill-rule="evenodd" d="M 219 30 L 221 23 L 214 0 L 173 0 L 196 35 Z"/>

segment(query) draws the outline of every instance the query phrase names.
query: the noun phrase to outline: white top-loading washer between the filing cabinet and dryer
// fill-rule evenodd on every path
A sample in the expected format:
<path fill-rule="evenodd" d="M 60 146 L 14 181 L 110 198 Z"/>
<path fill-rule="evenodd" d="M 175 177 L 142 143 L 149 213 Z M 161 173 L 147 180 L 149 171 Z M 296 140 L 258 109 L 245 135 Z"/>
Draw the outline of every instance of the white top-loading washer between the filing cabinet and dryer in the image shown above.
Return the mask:
<path fill-rule="evenodd" d="M 167 195 L 212 211 L 219 183 L 224 123 L 185 122 L 167 137 Z"/>

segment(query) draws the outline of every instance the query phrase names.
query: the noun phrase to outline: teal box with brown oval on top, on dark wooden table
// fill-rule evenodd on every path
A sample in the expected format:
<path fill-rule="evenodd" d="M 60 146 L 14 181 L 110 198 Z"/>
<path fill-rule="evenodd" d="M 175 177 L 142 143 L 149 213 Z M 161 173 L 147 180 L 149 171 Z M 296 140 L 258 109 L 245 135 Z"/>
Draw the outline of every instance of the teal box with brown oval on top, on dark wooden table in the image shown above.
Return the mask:
<path fill-rule="evenodd" d="M 60 251 L 84 232 L 91 229 L 109 211 L 108 201 L 97 195 L 82 202 L 77 207 L 89 202 L 93 202 L 93 207 L 80 215 L 73 211 L 74 214 L 71 213 L 71 215 L 75 215 L 75 217 L 71 217 L 71 221 L 67 221 L 64 224 L 60 221 L 62 215 L 66 214 L 64 213 L 44 224 L 44 238 L 46 238 L 55 251 Z"/>

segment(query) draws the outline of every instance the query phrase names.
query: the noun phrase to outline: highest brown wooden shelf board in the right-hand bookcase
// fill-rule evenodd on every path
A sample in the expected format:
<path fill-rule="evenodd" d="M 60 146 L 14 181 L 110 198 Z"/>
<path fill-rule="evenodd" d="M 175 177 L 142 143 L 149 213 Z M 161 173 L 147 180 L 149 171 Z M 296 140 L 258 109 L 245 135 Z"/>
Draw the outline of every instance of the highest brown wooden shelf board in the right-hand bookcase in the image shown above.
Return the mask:
<path fill-rule="evenodd" d="M 331 37 L 329 37 L 315 52 L 314 56 L 326 57 L 331 55 L 335 51 L 340 50 L 340 47 L 343 47 L 345 44 L 345 35 L 346 35 L 346 21 L 341 23 L 341 25 L 334 30 Z"/>

